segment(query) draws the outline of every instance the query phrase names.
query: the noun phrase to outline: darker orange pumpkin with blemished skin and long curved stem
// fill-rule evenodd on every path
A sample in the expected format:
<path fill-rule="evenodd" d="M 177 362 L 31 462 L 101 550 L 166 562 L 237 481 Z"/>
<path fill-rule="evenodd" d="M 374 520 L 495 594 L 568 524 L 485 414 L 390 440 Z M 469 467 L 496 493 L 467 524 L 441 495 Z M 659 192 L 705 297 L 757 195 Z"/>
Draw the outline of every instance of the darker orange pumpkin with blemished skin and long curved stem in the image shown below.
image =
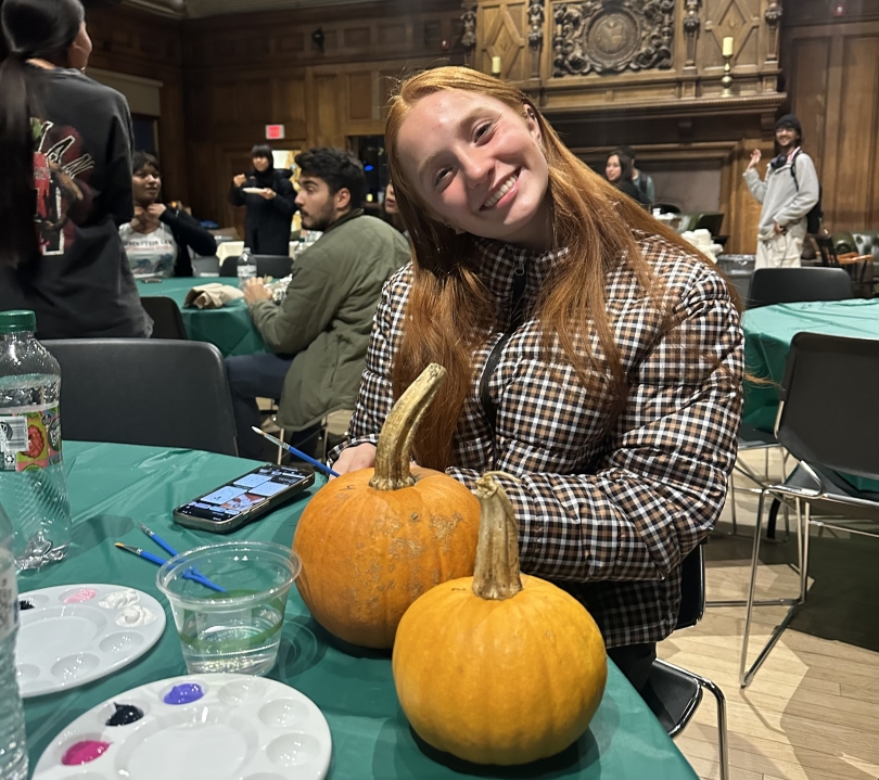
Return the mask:
<path fill-rule="evenodd" d="M 296 587 L 315 619 L 352 644 L 391 648 L 423 592 L 473 572 L 480 504 L 438 471 L 410 470 L 412 433 L 446 370 L 432 363 L 382 427 L 375 468 L 324 485 L 300 519 Z"/>

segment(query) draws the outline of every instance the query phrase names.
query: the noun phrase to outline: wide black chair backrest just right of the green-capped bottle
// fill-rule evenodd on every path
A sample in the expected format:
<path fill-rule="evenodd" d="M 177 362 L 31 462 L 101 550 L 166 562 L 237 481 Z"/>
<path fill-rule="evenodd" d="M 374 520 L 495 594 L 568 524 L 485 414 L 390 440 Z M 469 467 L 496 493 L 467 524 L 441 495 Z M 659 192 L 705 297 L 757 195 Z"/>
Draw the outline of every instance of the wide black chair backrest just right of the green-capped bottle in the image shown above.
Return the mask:
<path fill-rule="evenodd" d="M 152 338 L 44 341 L 61 363 L 64 436 L 238 455 L 219 349 Z"/>

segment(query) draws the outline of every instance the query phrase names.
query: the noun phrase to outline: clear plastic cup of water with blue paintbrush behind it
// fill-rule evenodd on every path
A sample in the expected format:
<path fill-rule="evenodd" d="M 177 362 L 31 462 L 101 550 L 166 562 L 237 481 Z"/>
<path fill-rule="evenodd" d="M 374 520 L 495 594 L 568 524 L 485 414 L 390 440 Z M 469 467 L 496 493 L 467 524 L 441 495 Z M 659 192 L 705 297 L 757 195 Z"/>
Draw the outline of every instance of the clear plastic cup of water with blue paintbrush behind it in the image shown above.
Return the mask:
<path fill-rule="evenodd" d="M 295 552 L 268 541 L 209 545 L 167 561 L 156 584 L 170 602 L 187 670 L 267 674 L 301 568 Z"/>

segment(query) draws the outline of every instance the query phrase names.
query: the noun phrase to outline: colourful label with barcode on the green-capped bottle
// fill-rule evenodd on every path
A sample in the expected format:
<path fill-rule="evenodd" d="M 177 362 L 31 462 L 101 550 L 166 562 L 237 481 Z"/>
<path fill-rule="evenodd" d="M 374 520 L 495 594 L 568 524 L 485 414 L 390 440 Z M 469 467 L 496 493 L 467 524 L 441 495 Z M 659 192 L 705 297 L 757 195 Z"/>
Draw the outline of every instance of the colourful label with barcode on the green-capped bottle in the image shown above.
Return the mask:
<path fill-rule="evenodd" d="M 61 415 L 58 404 L 23 407 L 0 417 L 2 471 L 46 469 L 61 463 Z"/>

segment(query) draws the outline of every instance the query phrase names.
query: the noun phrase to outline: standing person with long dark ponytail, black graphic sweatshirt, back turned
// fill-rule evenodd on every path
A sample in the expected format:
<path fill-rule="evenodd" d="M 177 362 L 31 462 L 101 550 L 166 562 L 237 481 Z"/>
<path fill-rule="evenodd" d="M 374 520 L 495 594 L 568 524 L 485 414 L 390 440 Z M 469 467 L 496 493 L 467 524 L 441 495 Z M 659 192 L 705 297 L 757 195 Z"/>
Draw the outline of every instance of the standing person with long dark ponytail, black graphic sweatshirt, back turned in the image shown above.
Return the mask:
<path fill-rule="evenodd" d="M 46 338 L 144 336 L 117 225 L 131 219 L 131 117 L 82 72 L 79 0 L 4 0 L 0 65 L 0 309 Z"/>

